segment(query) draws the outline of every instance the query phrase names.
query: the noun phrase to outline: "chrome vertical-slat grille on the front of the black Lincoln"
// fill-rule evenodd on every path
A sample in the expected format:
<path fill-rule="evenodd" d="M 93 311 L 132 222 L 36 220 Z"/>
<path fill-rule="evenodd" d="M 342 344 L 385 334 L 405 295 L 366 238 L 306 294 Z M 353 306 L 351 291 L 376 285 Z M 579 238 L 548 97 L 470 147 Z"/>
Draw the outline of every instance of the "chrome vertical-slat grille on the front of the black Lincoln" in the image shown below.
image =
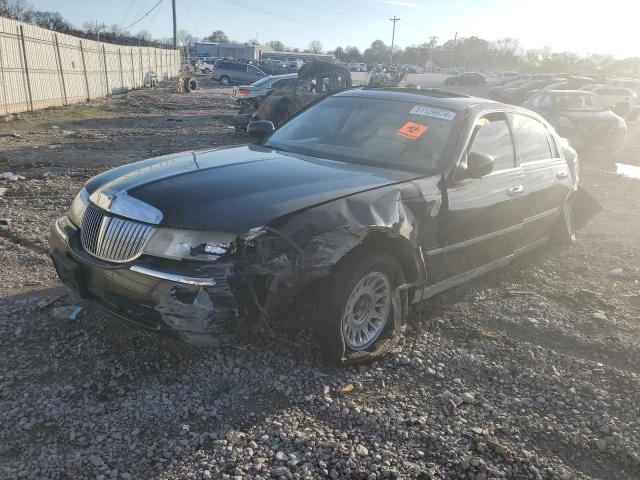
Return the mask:
<path fill-rule="evenodd" d="M 138 258 L 154 228 L 105 214 L 89 204 L 80 225 L 82 247 L 94 257 L 125 263 Z"/>

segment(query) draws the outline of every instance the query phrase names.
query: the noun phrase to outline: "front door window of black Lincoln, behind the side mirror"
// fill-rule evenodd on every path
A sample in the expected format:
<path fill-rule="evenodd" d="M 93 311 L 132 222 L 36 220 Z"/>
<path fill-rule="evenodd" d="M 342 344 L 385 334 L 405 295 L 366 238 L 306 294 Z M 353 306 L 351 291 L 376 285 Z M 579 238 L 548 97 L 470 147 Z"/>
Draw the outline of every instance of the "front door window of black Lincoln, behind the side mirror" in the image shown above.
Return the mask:
<path fill-rule="evenodd" d="M 515 153 L 511 131 L 504 115 L 482 117 L 476 122 L 476 134 L 469 147 L 469 153 L 490 155 L 494 161 L 494 171 L 515 166 Z"/>

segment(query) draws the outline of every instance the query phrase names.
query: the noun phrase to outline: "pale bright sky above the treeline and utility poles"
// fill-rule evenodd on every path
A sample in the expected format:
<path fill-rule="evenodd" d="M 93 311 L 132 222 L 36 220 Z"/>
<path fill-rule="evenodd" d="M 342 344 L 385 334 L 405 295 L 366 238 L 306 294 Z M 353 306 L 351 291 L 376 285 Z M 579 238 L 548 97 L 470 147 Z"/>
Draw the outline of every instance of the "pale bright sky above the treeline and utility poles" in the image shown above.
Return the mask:
<path fill-rule="evenodd" d="M 75 26 L 85 21 L 128 26 L 158 0 L 27 0 L 38 10 L 59 11 Z M 154 38 L 172 35 L 171 0 L 130 28 Z M 550 46 L 554 52 L 580 55 L 640 56 L 637 0 L 176 0 L 178 29 L 204 37 L 223 30 L 229 38 L 261 43 L 280 40 L 306 48 L 319 40 L 326 50 L 372 41 L 396 45 L 438 43 L 459 37 L 486 40 L 514 37 L 524 48 Z"/>

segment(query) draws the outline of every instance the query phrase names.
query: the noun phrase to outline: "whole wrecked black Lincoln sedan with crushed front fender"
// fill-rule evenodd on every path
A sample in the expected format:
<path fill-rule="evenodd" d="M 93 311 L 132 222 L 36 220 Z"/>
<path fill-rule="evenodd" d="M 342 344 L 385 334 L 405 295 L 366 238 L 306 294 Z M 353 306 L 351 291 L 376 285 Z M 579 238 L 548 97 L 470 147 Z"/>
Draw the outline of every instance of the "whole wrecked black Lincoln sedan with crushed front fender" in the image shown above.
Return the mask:
<path fill-rule="evenodd" d="M 393 344 L 410 303 L 575 241 L 577 155 L 520 107 L 360 87 L 248 131 L 90 179 L 52 230 L 60 278 L 201 345 L 304 298 L 323 354 L 349 363 Z"/>

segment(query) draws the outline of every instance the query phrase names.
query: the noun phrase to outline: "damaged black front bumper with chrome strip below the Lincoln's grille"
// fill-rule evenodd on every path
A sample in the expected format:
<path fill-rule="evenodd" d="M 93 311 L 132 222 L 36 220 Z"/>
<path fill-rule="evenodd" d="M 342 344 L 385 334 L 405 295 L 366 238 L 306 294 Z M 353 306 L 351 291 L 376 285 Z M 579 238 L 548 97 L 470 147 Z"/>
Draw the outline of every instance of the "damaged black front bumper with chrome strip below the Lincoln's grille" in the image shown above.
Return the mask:
<path fill-rule="evenodd" d="M 237 340 L 239 306 L 230 281 L 230 261 L 207 265 L 141 257 L 110 264 L 88 255 L 79 230 L 66 217 L 51 232 L 51 258 L 60 279 L 82 298 L 137 327 L 195 345 L 226 345 Z"/>

